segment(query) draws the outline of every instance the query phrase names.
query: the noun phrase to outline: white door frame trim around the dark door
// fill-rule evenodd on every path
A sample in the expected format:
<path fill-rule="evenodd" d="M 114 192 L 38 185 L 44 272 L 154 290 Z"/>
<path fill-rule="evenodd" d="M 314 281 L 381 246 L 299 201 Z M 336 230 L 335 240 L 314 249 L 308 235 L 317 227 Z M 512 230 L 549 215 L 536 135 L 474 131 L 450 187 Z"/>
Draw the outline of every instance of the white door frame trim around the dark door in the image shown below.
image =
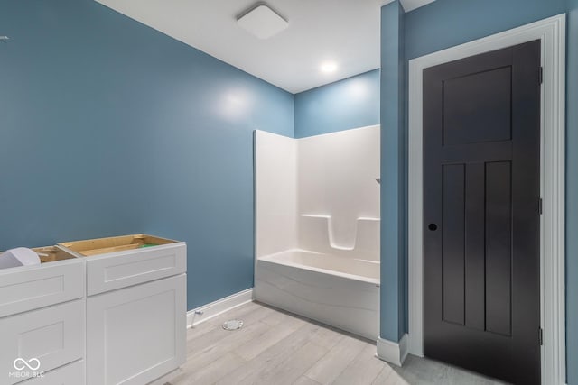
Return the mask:
<path fill-rule="evenodd" d="M 565 21 L 559 14 L 409 60 L 408 352 L 424 355 L 423 72 L 527 41 L 542 42 L 540 116 L 540 323 L 542 383 L 565 383 Z M 548 258 L 545 258 L 547 256 Z M 538 331 L 536 331 L 538 333 Z"/>

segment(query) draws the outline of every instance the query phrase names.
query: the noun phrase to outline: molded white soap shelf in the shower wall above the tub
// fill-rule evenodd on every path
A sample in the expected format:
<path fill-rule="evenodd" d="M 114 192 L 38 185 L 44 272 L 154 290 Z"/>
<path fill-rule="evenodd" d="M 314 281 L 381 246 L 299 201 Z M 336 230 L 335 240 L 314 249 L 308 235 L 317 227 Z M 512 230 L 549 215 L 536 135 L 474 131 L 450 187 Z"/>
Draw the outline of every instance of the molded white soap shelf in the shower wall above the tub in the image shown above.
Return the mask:
<path fill-rule="evenodd" d="M 359 216 L 356 219 L 355 234 L 350 237 L 352 242 L 348 243 L 335 239 L 331 215 L 301 214 L 299 216 L 302 218 L 299 226 L 302 230 L 302 239 L 305 240 L 305 243 L 309 243 L 307 246 L 312 247 L 309 250 L 323 248 L 323 244 L 311 244 L 322 241 L 329 245 L 331 249 L 342 252 L 362 251 L 378 253 L 379 244 L 376 240 L 379 238 L 376 235 L 379 232 L 379 218 Z"/>

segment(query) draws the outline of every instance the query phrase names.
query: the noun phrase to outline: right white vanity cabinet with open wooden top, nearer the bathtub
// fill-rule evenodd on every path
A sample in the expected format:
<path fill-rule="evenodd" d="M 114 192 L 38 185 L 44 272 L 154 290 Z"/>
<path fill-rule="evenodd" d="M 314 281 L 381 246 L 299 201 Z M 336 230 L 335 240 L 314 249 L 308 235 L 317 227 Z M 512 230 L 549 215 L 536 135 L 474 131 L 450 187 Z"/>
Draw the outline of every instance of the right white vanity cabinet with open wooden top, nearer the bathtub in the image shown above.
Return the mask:
<path fill-rule="evenodd" d="M 86 261 L 87 385 L 143 385 L 185 362 L 185 243 L 137 234 L 60 245 Z"/>

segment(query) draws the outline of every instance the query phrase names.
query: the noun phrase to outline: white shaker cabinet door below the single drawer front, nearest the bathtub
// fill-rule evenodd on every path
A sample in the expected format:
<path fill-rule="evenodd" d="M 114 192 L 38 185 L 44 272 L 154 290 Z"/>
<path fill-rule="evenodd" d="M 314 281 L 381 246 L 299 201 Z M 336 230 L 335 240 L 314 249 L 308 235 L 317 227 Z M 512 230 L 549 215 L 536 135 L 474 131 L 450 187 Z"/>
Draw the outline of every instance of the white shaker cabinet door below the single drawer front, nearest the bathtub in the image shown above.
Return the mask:
<path fill-rule="evenodd" d="M 87 298 L 87 384 L 143 385 L 185 354 L 185 274 Z"/>

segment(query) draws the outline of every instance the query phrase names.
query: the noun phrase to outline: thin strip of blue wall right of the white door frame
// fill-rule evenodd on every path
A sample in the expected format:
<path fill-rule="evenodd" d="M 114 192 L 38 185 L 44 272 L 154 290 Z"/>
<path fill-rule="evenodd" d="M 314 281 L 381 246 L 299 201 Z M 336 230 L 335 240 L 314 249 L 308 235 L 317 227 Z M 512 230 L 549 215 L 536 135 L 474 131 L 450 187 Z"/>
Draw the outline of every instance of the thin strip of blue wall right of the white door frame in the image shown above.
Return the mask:
<path fill-rule="evenodd" d="M 568 0 L 566 100 L 566 349 L 568 383 L 578 384 L 578 0 Z"/>

